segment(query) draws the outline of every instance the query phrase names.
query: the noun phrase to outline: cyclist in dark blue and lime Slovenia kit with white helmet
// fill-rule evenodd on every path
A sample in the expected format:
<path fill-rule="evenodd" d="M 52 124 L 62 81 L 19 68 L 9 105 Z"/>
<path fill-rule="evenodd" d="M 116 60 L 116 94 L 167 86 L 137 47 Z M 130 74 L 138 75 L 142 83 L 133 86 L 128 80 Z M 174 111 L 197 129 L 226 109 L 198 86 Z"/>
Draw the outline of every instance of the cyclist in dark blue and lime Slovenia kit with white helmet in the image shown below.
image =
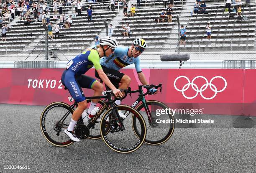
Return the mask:
<path fill-rule="evenodd" d="M 67 134 L 71 140 L 79 142 L 79 139 L 74 134 L 74 126 L 81 117 L 82 112 L 87 108 L 87 101 L 84 97 L 84 93 L 81 88 L 93 89 L 93 96 L 100 96 L 103 90 L 103 85 L 92 77 L 85 76 L 84 73 L 88 71 L 92 66 L 95 66 L 100 79 L 107 84 L 113 94 L 116 97 L 122 97 L 123 94 L 119 89 L 110 82 L 102 67 L 100 65 L 100 57 L 109 56 L 115 51 L 118 46 L 117 41 L 111 37 L 102 37 L 100 39 L 100 48 L 97 50 L 84 51 L 76 56 L 74 59 L 67 63 L 66 69 L 61 76 L 61 82 L 67 87 L 69 93 L 72 95 L 74 100 L 77 102 L 78 106 L 72 114 L 71 122 L 67 129 L 65 129 L 65 134 Z M 96 107 L 99 99 L 93 99 L 91 105 L 88 109 L 88 113 Z"/>

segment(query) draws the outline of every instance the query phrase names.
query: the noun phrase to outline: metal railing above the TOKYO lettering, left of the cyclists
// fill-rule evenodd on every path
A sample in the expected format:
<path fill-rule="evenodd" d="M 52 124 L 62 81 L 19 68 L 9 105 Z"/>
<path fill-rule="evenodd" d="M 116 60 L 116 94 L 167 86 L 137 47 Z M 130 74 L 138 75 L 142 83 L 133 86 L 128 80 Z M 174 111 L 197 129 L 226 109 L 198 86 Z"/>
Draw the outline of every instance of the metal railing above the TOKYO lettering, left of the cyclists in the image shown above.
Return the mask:
<path fill-rule="evenodd" d="M 59 68 L 58 61 L 14 61 L 14 68 Z"/>

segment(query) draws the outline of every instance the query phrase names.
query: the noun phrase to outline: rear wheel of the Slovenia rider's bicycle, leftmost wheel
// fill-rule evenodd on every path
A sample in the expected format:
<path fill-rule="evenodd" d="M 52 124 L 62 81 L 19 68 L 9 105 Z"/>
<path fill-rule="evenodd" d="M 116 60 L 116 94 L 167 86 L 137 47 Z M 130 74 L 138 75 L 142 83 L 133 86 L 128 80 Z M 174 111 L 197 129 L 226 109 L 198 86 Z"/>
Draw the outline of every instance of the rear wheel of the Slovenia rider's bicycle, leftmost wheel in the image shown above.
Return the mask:
<path fill-rule="evenodd" d="M 48 142 L 58 147 L 67 147 L 74 143 L 64 133 L 69 126 L 74 109 L 63 102 L 54 102 L 46 106 L 41 114 L 41 131 Z M 61 120 L 62 118 L 62 120 Z"/>

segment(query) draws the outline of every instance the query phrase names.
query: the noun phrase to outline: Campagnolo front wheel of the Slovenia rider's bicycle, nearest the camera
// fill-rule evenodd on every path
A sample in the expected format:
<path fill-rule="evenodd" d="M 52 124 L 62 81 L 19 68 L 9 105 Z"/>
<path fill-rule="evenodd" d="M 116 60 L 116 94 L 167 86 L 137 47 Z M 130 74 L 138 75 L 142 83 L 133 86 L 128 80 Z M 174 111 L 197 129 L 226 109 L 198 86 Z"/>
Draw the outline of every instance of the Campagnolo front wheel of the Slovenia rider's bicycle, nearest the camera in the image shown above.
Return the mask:
<path fill-rule="evenodd" d="M 121 111 L 126 118 L 120 123 L 115 119 L 113 111 Z M 132 121 L 136 120 L 136 128 L 140 135 L 133 130 Z M 110 129 L 108 131 L 108 129 Z M 146 124 L 141 114 L 130 106 L 118 105 L 116 109 L 108 109 L 100 122 L 102 140 L 112 150 L 118 153 L 131 153 L 143 144 L 146 137 Z"/>

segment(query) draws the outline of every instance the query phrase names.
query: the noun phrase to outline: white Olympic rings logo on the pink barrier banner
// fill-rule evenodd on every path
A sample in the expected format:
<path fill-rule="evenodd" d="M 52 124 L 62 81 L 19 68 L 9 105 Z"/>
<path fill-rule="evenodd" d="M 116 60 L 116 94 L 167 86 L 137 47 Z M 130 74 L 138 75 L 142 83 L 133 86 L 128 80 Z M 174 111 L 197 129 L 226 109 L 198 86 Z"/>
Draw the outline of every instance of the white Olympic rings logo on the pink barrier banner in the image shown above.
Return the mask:
<path fill-rule="evenodd" d="M 180 79 L 180 78 L 185 78 L 185 79 L 187 79 L 187 81 L 188 81 L 188 83 L 185 84 L 185 85 L 182 87 L 182 89 L 178 89 L 177 86 L 176 86 L 176 82 L 177 82 L 177 80 Z M 198 87 L 196 84 L 194 84 L 195 79 L 198 79 L 198 78 L 202 78 L 202 79 L 204 79 L 205 82 L 206 82 L 205 84 L 203 84 L 203 85 L 201 86 L 200 89 L 199 89 L 199 87 Z M 217 87 L 216 87 L 214 84 L 212 84 L 212 81 L 213 81 L 214 79 L 216 79 L 216 78 L 223 79 L 223 81 L 225 82 L 225 86 L 223 87 L 223 89 L 217 90 Z M 193 89 L 195 92 L 197 92 L 197 93 L 195 94 L 195 96 L 193 96 L 193 97 L 187 97 L 187 96 L 184 94 L 184 92 L 189 89 L 189 86 L 190 86 L 190 85 L 192 86 L 192 89 Z M 210 86 L 210 89 L 211 89 L 213 92 L 215 92 L 215 94 L 214 94 L 212 97 L 205 97 L 205 96 L 202 94 L 202 92 L 204 92 L 204 91 L 208 88 L 208 86 Z M 175 79 L 175 81 L 174 81 L 174 88 L 177 89 L 177 91 L 182 92 L 182 95 L 183 95 L 186 99 L 194 99 L 195 97 L 197 97 L 198 93 L 200 93 L 200 95 L 201 95 L 202 98 L 204 98 L 204 99 L 206 99 L 206 100 L 210 100 L 210 99 L 213 99 L 213 98 L 217 95 L 218 92 L 223 92 L 224 89 L 226 89 L 226 87 L 227 87 L 227 81 L 226 81 L 226 79 L 224 79 L 222 76 L 215 76 L 215 77 L 213 77 L 213 78 L 210 80 L 210 82 L 208 82 L 208 80 L 207 80 L 204 76 L 196 76 L 191 82 L 189 81 L 189 78 L 188 78 L 187 76 L 179 76 L 179 77 L 177 77 L 177 78 Z"/>

